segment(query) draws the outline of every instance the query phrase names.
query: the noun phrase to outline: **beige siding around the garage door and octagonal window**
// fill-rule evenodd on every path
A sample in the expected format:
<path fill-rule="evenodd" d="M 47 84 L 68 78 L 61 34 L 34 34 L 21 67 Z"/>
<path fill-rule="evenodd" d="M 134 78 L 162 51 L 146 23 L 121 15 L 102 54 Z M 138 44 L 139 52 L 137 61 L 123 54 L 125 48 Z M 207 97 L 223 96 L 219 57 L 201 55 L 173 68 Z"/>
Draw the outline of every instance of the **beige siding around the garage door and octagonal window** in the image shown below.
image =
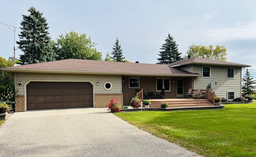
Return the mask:
<path fill-rule="evenodd" d="M 94 84 L 94 93 L 122 93 L 121 76 L 105 76 L 105 75 L 82 75 L 82 74 L 48 74 L 48 73 L 17 73 L 15 74 L 15 82 L 22 82 L 22 85 L 16 85 L 18 95 L 24 95 L 24 85 L 29 81 L 91 81 Z M 110 81 L 112 89 L 104 89 L 104 83 Z M 96 85 L 99 82 L 100 85 Z"/>

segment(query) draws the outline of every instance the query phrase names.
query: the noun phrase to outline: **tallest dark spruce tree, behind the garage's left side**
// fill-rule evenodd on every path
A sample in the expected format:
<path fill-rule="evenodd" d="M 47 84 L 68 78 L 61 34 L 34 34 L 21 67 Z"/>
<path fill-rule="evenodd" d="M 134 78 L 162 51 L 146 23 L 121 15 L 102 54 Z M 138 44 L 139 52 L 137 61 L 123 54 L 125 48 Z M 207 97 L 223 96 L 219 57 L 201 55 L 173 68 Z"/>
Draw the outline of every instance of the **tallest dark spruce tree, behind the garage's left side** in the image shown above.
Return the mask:
<path fill-rule="evenodd" d="M 46 18 L 34 7 L 30 7 L 28 12 L 29 15 L 22 15 L 21 32 L 18 34 L 18 48 L 24 52 L 20 55 L 20 61 L 23 64 L 32 64 L 55 60 Z"/>

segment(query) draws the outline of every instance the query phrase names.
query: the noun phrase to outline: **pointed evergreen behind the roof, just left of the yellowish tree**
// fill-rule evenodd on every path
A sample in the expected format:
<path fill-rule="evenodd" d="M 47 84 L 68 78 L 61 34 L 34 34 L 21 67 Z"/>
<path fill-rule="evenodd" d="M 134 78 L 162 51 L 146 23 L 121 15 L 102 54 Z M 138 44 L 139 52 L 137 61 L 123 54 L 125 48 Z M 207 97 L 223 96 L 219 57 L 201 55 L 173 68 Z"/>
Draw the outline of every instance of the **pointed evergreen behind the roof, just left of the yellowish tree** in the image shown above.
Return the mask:
<path fill-rule="evenodd" d="M 170 64 L 182 60 L 181 53 L 178 51 L 178 45 L 173 40 L 173 37 L 170 36 L 170 33 L 160 49 L 162 51 L 158 54 L 160 58 L 157 58 L 159 62 L 156 64 Z"/>

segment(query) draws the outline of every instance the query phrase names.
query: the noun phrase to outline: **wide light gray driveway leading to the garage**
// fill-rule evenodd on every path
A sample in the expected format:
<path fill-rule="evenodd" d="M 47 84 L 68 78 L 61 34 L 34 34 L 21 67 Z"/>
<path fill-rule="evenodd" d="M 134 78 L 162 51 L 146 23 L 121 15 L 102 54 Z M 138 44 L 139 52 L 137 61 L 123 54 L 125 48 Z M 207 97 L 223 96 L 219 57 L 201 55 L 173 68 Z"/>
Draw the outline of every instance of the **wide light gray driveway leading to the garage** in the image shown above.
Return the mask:
<path fill-rule="evenodd" d="M 0 157 L 195 157 L 106 109 L 14 113 L 0 127 Z"/>

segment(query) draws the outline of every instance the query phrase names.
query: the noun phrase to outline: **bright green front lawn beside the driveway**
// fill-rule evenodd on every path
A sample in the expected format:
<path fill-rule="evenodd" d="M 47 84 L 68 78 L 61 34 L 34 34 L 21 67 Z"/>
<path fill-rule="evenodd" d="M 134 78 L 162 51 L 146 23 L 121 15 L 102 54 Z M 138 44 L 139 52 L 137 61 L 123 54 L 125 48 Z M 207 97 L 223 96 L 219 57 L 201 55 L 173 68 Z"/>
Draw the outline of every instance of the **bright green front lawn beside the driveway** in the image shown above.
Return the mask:
<path fill-rule="evenodd" d="M 138 111 L 116 116 L 204 157 L 256 156 L 256 101 L 226 109 Z"/>

